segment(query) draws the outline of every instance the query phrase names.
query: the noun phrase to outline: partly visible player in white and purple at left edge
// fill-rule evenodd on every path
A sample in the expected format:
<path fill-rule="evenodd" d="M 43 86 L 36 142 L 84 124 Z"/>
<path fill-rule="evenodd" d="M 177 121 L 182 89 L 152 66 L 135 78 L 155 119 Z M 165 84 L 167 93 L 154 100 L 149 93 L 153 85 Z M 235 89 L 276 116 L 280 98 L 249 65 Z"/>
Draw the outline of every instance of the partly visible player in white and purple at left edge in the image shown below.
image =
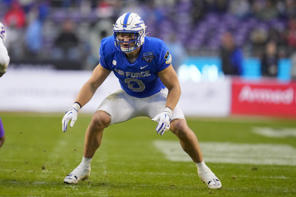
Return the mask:
<path fill-rule="evenodd" d="M 10 58 L 7 53 L 7 49 L 4 46 L 5 40 L 6 40 L 6 31 L 4 29 L 3 24 L 0 22 L 0 77 L 2 77 L 4 73 L 6 73 L 6 69 L 10 61 Z M 4 134 L 5 134 L 4 127 L 2 124 L 2 120 L 0 118 L 0 147 L 3 145 L 5 141 Z"/>

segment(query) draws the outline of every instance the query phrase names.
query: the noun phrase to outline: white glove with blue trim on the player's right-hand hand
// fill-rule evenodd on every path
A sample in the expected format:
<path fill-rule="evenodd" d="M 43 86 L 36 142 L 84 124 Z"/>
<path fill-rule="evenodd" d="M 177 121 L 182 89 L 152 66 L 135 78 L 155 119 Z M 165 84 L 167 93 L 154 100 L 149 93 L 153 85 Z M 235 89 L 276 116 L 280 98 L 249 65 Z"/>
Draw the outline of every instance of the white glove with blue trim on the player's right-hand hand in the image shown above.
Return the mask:
<path fill-rule="evenodd" d="M 156 115 L 154 119 L 151 119 L 153 121 L 159 120 L 159 123 L 156 127 L 157 134 L 160 133 L 160 135 L 163 135 L 164 132 L 170 129 L 170 122 L 172 121 L 172 113 L 173 110 L 171 108 L 166 107 L 163 112 Z"/>

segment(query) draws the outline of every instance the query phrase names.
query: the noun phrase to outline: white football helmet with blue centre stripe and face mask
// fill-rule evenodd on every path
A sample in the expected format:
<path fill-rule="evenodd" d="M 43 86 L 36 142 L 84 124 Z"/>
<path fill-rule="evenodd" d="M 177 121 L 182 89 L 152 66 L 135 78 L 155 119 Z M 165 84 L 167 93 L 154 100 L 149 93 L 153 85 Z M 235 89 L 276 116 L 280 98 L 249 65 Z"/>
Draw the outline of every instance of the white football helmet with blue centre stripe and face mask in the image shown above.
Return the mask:
<path fill-rule="evenodd" d="M 125 13 L 117 19 L 113 26 L 114 44 L 118 50 L 124 53 L 130 53 L 144 43 L 145 29 L 147 26 L 145 26 L 143 19 L 138 14 L 131 12 Z M 128 48 L 120 46 L 120 43 L 125 41 L 118 40 L 119 33 L 134 33 L 134 40 L 128 41 Z"/>

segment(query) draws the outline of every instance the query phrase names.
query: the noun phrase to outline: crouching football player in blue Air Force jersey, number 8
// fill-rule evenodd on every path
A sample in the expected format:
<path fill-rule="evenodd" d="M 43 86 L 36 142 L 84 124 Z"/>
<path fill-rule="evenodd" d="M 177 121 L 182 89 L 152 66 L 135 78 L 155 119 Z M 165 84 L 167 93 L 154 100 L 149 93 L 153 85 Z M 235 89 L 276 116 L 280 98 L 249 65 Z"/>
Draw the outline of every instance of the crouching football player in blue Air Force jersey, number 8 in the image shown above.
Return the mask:
<path fill-rule="evenodd" d="M 100 63 L 64 115 L 62 130 L 67 130 L 69 120 L 73 127 L 80 108 L 88 103 L 111 71 L 121 88 L 107 96 L 97 108 L 86 130 L 82 161 L 65 177 L 64 183 L 88 179 L 92 157 L 106 127 L 147 116 L 158 123 L 157 134 L 170 130 L 179 138 L 183 150 L 196 163 L 199 178 L 209 188 L 221 188 L 220 180 L 204 163 L 198 140 L 177 105 L 181 89 L 171 65 L 171 54 L 162 40 L 146 37 L 145 28 L 138 14 L 125 13 L 117 19 L 114 35 L 101 41 Z"/>

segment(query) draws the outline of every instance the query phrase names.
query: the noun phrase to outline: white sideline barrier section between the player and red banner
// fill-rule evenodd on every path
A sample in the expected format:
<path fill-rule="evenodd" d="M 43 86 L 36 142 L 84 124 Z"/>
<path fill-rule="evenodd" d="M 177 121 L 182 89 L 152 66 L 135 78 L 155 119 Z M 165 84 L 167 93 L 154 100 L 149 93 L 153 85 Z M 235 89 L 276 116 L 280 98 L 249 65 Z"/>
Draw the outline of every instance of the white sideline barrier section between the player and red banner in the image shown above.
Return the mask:
<path fill-rule="evenodd" d="M 185 116 L 229 116 L 231 107 L 231 79 L 216 82 L 180 82 L 178 105 Z"/>

